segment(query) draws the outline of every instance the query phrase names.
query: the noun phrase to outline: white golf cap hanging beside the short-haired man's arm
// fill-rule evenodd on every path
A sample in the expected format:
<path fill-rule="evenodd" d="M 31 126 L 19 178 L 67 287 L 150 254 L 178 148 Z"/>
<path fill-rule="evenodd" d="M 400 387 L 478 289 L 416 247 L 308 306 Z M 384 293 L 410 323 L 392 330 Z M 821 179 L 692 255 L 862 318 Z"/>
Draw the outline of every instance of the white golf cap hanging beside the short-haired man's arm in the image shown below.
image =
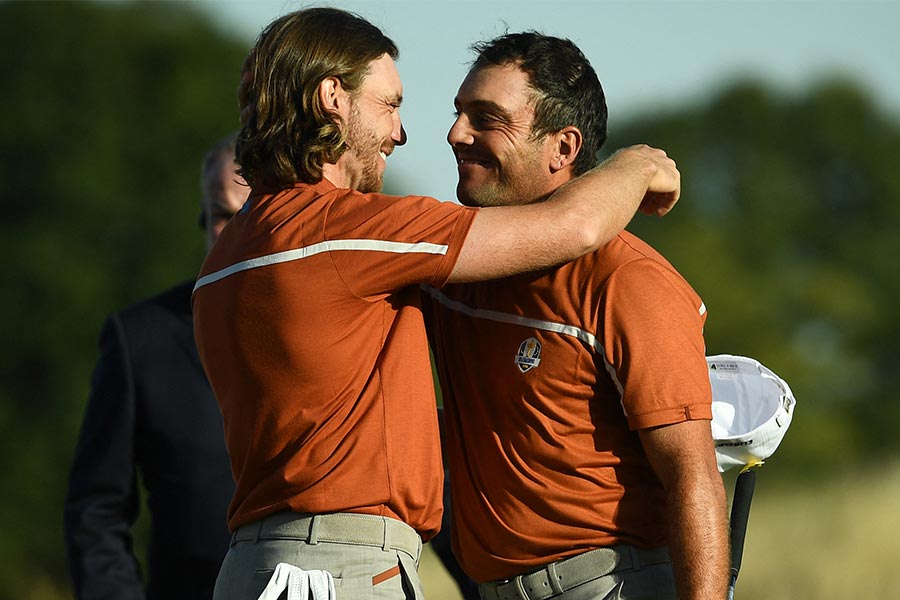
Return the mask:
<path fill-rule="evenodd" d="M 719 471 L 753 466 L 778 448 L 797 401 L 787 382 L 745 356 L 707 356 Z"/>

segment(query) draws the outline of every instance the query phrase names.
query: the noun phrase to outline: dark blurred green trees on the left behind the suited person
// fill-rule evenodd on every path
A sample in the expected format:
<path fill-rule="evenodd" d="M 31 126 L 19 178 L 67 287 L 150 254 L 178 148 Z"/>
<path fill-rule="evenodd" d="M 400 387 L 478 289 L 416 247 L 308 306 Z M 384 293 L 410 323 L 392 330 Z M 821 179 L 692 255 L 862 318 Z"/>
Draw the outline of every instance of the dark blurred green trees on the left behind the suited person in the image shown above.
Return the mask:
<path fill-rule="evenodd" d="M 67 597 L 62 498 L 104 315 L 192 276 L 246 42 L 176 3 L 0 3 L 0 597 Z M 39 590 L 43 590 L 40 592 Z"/>

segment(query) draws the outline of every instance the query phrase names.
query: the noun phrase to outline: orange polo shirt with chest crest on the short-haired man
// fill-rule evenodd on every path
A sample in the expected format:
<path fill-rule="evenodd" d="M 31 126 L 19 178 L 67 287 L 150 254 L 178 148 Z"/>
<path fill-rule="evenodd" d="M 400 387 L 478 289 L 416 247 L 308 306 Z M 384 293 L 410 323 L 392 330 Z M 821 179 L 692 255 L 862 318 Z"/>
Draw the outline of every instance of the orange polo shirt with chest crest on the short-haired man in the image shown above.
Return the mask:
<path fill-rule="evenodd" d="M 624 232 L 556 269 L 423 294 L 465 571 L 665 545 L 636 430 L 712 418 L 706 310 L 672 265 Z"/>

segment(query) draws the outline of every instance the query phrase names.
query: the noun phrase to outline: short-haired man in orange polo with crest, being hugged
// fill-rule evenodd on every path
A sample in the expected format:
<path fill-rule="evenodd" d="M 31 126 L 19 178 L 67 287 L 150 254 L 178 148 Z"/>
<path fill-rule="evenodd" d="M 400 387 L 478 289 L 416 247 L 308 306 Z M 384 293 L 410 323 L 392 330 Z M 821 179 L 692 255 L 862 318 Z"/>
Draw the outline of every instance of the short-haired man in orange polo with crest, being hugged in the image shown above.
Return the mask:
<path fill-rule="evenodd" d="M 600 81 L 569 40 L 474 49 L 447 136 L 458 197 L 540 205 L 596 163 Z M 561 266 L 425 297 L 453 545 L 482 598 L 724 598 L 706 309 L 672 265 L 622 232 Z"/>

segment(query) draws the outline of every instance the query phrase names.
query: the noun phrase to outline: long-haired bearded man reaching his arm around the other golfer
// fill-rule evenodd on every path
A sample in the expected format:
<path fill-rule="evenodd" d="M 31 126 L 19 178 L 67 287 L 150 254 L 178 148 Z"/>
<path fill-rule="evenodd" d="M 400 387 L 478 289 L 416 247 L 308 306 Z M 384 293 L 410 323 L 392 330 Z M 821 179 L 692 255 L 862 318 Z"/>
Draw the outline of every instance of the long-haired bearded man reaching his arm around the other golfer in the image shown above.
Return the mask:
<path fill-rule="evenodd" d="M 638 146 L 534 206 L 383 195 L 406 141 L 396 56 L 364 19 L 304 9 L 262 32 L 242 75 L 252 192 L 193 296 L 237 480 L 217 600 L 257 597 L 281 562 L 344 597 L 418 594 L 443 469 L 417 284 L 570 260 L 679 193 L 674 162 Z"/>

